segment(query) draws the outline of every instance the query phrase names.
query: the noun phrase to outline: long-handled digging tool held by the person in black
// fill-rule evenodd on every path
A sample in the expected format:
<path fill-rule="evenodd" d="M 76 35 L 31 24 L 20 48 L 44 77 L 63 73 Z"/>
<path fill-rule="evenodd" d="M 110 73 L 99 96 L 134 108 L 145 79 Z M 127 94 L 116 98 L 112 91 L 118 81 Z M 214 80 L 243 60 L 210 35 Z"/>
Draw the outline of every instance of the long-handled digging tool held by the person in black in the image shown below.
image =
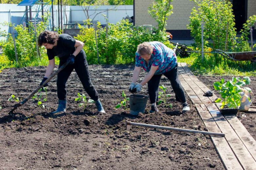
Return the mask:
<path fill-rule="evenodd" d="M 63 70 L 69 63 L 70 63 L 70 61 L 67 61 L 65 64 L 63 64 L 57 71 L 55 71 L 49 78 L 47 78 L 43 82 L 42 85 L 37 87 L 27 98 L 25 98 L 22 102 L 15 104 L 14 108 L 9 112 L 9 114 L 11 114 L 14 110 L 16 110 L 18 107 L 20 107 L 24 103 L 26 103 L 35 93 L 38 92 L 39 89 L 41 89 L 46 83 L 48 83 L 54 76 L 56 76 L 61 70 Z"/>

